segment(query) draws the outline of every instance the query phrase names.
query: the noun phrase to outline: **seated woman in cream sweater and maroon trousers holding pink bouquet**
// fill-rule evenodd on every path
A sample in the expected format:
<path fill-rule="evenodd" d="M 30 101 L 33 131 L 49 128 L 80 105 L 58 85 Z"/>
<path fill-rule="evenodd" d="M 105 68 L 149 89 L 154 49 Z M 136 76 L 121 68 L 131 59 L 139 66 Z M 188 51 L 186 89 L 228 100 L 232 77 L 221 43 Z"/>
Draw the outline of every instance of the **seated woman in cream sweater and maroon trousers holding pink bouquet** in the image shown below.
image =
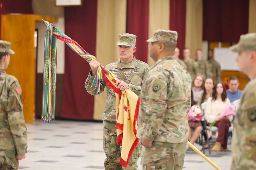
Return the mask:
<path fill-rule="evenodd" d="M 226 87 L 222 81 L 217 81 L 213 88 L 212 97 L 209 97 L 206 104 L 205 119 L 207 123 L 217 121 L 214 125 L 218 127 L 218 137 L 212 151 L 218 152 L 220 149 L 228 151 L 228 129 L 231 126 L 233 116 L 220 117 L 222 110 L 230 103 L 227 98 Z"/>

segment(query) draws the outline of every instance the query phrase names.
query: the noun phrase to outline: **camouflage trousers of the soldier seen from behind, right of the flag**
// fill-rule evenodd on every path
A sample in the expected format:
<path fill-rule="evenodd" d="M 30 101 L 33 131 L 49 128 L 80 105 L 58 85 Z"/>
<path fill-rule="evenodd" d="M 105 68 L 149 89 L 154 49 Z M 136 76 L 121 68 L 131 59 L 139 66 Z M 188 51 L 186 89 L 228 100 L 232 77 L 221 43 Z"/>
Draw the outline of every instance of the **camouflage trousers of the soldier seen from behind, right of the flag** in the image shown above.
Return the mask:
<path fill-rule="evenodd" d="M 152 147 L 142 146 L 143 170 L 181 170 L 186 154 L 186 142 L 167 143 L 153 141 Z"/>

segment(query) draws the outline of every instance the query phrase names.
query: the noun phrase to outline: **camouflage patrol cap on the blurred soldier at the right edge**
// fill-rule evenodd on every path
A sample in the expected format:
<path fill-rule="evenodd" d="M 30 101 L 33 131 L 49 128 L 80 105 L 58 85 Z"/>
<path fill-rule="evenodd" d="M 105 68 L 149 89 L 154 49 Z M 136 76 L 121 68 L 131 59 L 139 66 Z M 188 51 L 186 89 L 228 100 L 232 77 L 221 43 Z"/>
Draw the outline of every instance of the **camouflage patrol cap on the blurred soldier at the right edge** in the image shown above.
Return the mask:
<path fill-rule="evenodd" d="M 242 34 L 237 44 L 229 47 L 231 51 L 256 50 L 256 33 Z"/>

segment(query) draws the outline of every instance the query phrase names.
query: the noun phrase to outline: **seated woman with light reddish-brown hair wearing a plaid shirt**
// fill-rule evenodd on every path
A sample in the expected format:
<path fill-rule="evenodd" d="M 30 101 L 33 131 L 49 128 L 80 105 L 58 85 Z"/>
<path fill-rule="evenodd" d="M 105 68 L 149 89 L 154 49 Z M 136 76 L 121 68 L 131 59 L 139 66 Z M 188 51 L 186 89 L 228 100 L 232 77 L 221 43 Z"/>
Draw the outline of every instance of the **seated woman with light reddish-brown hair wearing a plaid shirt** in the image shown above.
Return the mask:
<path fill-rule="evenodd" d="M 194 100 L 198 103 L 198 95 L 204 92 L 204 76 L 200 73 L 197 73 L 192 80 L 192 91 L 194 95 Z"/>

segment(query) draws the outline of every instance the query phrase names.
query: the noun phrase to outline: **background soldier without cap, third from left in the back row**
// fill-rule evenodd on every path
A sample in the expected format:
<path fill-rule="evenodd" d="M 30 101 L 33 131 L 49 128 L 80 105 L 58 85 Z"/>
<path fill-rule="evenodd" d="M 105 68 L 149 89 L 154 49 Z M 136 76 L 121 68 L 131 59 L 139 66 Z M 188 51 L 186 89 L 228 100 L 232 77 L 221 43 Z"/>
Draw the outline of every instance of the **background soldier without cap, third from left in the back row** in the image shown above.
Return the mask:
<path fill-rule="evenodd" d="M 212 77 L 211 74 L 211 69 L 208 65 L 208 62 L 206 60 L 202 59 L 202 50 L 201 49 L 197 49 L 196 50 L 196 62 L 198 64 L 198 73 L 201 73 L 205 79 L 207 79 L 208 77 Z"/>

